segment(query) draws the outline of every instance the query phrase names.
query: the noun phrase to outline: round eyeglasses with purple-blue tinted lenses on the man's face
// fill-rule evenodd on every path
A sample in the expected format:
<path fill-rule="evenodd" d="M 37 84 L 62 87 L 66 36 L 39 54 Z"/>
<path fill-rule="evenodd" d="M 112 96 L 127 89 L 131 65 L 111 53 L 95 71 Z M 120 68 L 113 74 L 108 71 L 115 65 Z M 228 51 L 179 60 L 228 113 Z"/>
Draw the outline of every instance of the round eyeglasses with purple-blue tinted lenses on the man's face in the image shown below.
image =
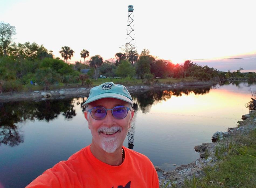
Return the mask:
<path fill-rule="evenodd" d="M 91 114 L 92 118 L 94 118 L 95 120 L 103 120 L 107 115 L 108 110 L 112 111 L 112 115 L 116 119 L 123 119 L 127 116 L 130 108 L 126 106 L 115 106 L 113 109 L 105 109 L 104 107 L 96 106 L 87 111 Z"/>

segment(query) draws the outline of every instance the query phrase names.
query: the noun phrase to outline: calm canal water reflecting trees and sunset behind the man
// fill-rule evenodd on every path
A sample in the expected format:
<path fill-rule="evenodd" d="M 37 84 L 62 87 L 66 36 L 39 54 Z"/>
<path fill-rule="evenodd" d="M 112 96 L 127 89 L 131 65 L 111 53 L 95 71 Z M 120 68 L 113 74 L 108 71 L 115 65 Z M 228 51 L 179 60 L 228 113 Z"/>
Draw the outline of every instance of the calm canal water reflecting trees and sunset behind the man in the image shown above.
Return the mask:
<path fill-rule="evenodd" d="M 237 126 L 255 83 L 132 93 L 135 110 L 124 146 L 165 170 L 199 158 L 193 149 Z M 25 187 L 91 143 L 85 98 L 0 103 L 0 187 Z"/>

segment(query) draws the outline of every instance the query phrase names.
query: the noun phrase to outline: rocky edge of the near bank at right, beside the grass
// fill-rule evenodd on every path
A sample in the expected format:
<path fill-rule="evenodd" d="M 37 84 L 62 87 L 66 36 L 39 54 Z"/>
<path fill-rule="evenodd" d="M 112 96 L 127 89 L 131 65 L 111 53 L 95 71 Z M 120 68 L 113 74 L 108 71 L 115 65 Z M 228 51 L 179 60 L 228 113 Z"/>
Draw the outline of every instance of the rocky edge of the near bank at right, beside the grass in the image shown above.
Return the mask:
<path fill-rule="evenodd" d="M 181 165 L 176 167 L 173 171 L 165 172 L 158 167 L 155 167 L 158 172 L 162 173 L 162 177 L 159 178 L 160 185 L 167 184 L 169 181 L 176 184 L 177 187 L 182 186 L 185 177 L 192 178 L 200 177 L 203 175 L 203 167 L 215 166 L 218 164 L 218 158 L 215 156 L 215 146 L 222 140 L 232 140 L 234 137 L 248 133 L 249 131 L 256 129 L 256 111 L 250 111 L 250 113 L 242 115 L 243 121 L 238 121 L 239 126 L 229 128 L 227 132 L 216 132 L 212 136 L 212 143 L 202 143 L 202 145 L 195 146 L 194 149 L 199 153 L 200 158 L 190 164 Z M 226 138 L 226 139 L 224 139 Z M 224 141 L 223 141 L 224 142 Z M 227 144 L 225 142 L 225 144 Z M 225 154 L 225 153 L 224 153 Z M 171 184 L 169 184 L 171 186 Z"/>

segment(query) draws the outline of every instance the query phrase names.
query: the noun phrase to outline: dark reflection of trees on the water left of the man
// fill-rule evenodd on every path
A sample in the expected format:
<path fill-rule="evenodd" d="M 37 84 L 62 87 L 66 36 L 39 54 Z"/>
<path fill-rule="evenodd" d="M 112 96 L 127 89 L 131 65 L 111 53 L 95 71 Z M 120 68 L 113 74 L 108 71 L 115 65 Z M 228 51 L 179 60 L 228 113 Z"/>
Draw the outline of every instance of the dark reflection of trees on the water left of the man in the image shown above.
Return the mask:
<path fill-rule="evenodd" d="M 73 100 L 44 100 L 0 103 L 0 145 L 18 146 L 24 142 L 19 133 L 18 122 L 45 120 L 49 122 L 60 113 L 70 119 L 76 115 Z"/>

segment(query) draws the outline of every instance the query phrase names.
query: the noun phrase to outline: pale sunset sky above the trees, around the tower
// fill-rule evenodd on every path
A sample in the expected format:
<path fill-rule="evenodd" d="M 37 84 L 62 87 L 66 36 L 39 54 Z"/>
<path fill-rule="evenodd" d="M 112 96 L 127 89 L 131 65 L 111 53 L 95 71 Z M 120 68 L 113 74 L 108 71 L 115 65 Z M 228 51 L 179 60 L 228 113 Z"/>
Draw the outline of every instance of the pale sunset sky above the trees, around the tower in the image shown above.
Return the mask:
<path fill-rule="evenodd" d="M 256 57 L 256 1 L 0 0 L 0 21 L 16 27 L 15 42 L 36 42 L 60 57 L 61 46 L 114 58 L 126 43 L 128 5 L 134 5 L 137 51 L 160 59 Z M 218 70 L 256 71 L 256 59 L 191 60 Z"/>

